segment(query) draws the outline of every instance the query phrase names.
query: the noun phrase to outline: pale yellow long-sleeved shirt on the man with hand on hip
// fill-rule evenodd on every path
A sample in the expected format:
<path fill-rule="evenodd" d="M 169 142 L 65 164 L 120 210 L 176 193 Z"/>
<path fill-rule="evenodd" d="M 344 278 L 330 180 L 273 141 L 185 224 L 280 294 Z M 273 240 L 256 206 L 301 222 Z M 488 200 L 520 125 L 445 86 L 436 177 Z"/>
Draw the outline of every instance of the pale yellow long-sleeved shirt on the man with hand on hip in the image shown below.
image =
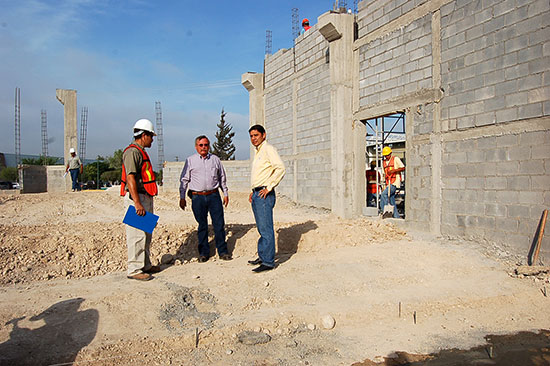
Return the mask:
<path fill-rule="evenodd" d="M 277 150 L 266 141 L 255 147 L 250 183 L 252 188 L 275 188 L 285 175 L 285 165 Z"/>

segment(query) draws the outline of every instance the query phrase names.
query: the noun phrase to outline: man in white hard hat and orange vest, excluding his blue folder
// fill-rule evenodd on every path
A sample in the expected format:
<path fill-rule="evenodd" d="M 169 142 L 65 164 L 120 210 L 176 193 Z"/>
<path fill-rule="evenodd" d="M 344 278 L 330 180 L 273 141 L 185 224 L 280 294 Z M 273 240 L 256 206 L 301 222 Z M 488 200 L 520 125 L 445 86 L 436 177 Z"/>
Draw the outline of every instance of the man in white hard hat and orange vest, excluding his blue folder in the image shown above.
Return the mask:
<path fill-rule="evenodd" d="M 134 124 L 134 142 L 122 154 L 120 195 L 124 196 L 126 209 L 134 205 L 139 216 L 144 216 L 146 211 L 153 212 L 153 197 L 158 193 L 153 165 L 145 152 L 156 135 L 151 121 L 138 120 Z M 160 272 L 160 267 L 151 265 L 149 258 L 151 238 L 151 234 L 126 225 L 128 278 L 148 281 L 152 278 L 151 273 Z"/>

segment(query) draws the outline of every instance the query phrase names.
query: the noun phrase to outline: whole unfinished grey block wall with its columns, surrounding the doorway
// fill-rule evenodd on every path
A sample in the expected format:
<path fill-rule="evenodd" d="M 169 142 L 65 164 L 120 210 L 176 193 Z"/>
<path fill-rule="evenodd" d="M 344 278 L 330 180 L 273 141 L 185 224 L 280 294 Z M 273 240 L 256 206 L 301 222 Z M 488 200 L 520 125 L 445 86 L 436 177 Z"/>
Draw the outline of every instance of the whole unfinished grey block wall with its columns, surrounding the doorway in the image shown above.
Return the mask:
<path fill-rule="evenodd" d="M 360 215 L 362 121 L 404 111 L 406 220 L 526 254 L 550 206 L 549 23 L 548 1 L 369 0 L 321 15 L 264 75 L 243 75 L 250 123 L 287 166 L 279 191 Z"/>

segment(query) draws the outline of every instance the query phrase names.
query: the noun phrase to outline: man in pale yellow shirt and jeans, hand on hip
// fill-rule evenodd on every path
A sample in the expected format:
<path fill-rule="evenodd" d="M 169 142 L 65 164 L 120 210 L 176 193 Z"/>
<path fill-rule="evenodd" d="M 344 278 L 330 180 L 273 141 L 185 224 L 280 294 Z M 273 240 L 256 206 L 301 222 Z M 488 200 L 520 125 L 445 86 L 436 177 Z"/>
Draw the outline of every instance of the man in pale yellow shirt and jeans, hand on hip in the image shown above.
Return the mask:
<path fill-rule="evenodd" d="M 275 187 L 285 175 L 285 166 L 277 150 L 265 141 L 265 129 L 254 125 L 248 130 L 250 142 L 255 148 L 250 181 L 252 192 L 248 197 L 256 227 L 260 233 L 258 258 L 248 263 L 259 265 L 252 271 L 259 273 L 275 267 L 275 231 L 273 230 L 273 207 Z"/>

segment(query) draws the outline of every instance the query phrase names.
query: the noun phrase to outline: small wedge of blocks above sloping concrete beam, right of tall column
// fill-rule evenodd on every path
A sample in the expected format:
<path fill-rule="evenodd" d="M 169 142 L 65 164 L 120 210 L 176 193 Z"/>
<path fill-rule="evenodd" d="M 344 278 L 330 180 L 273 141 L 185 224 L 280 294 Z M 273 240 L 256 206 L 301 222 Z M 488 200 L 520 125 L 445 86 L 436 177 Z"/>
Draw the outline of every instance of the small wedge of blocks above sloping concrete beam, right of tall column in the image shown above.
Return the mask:
<path fill-rule="evenodd" d="M 382 27 L 424 4 L 428 0 L 361 1 L 358 5 L 357 23 L 359 37 Z"/>

